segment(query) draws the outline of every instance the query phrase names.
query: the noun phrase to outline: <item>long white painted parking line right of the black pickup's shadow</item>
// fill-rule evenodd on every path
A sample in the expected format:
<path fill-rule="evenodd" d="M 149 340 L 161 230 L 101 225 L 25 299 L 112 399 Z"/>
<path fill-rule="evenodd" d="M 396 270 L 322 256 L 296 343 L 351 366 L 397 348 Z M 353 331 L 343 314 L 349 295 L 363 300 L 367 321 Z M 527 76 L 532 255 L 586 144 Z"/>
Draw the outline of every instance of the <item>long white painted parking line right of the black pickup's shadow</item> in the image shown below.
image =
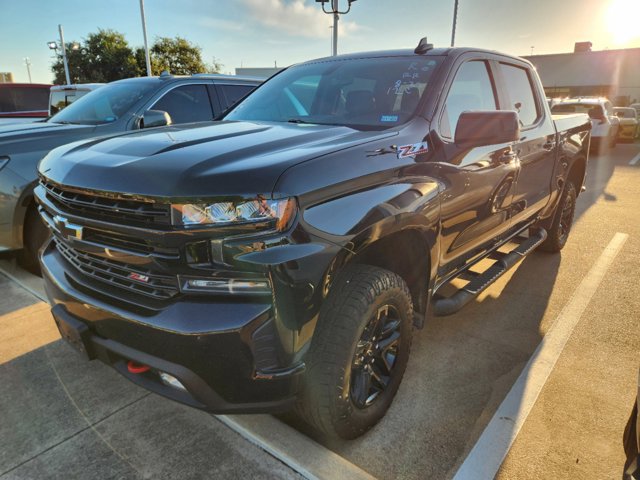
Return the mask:
<path fill-rule="evenodd" d="M 573 329 L 602 282 L 616 255 L 629 238 L 616 233 L 589 273 L 583 278 L 544 336 L 513 387 L 462 463 L 454 480 L 495 477 L 522 425 L 555 367 Z"/>

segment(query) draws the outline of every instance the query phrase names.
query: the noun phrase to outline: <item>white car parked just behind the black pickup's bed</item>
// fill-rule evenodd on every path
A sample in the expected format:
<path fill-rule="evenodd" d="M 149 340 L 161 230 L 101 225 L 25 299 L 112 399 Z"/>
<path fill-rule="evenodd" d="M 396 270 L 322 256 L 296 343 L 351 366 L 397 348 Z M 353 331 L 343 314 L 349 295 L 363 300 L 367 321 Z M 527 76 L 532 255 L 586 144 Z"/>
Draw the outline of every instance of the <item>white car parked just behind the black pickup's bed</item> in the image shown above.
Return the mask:
<path fill-rule="evenodd" d="M 591 142 L 594 147 L 618 143 L 620 120 L 613 112 L 613 105 L 606 98 L 578 97 L 563 99 L 551 108 L 555 114 L 587 113 L 591 118 Z"/>

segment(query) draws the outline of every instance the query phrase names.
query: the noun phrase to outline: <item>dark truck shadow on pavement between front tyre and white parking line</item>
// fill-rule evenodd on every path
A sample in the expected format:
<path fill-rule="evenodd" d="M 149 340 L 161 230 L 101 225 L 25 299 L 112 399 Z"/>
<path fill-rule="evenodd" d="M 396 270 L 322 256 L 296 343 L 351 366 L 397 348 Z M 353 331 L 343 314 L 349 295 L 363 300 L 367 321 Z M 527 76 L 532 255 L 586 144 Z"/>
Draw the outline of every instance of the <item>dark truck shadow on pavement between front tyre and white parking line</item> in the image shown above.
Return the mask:
<path fill-rule="evenodd" d="M 460 313 L 414 330 L 398 395 L 363 437 L 328 440 L 284 420 L 378 478 L 451 476 L 544 336 L 560 263 L 534 253 Z"/>

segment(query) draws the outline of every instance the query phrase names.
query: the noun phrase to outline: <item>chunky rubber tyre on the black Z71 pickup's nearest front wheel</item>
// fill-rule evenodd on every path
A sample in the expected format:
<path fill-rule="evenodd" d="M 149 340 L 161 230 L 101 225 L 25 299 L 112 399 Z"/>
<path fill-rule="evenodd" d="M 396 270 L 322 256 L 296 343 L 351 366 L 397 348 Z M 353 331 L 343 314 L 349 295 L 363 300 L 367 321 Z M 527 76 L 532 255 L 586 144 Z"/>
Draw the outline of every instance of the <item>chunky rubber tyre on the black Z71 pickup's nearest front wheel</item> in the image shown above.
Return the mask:
<path fill-rule="evenodd" d="M 390 306 L 400 319 L 395 363 L 387 386 L 370 405 L 358 407 L 350 394 L 352 373 L 358 374 L 353 361 L 365 330 L 370 331 L 374 316 L 379 318 L 385 306 L 385 318 Z M 356 438 L 373 427 L 391 405 L 402 380 L 411 348 L 412 317 L 411 295 L 400 276 L 369 265 L 347 267 L 336 277 L 320 310 L 296 414 L 328 437 Z"/>

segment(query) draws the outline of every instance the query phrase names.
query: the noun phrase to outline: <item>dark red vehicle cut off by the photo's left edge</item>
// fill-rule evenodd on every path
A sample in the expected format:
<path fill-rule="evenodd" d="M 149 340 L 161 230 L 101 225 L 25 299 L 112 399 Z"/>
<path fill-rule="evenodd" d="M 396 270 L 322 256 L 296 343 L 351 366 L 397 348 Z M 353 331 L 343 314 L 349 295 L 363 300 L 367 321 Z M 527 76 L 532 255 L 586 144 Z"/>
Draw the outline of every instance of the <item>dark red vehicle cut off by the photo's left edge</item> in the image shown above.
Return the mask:
<path fill-rule="evenodd" d="M 49 88 L 42 83 L 0 83 L 0 124 L 47 118 Z"/>

